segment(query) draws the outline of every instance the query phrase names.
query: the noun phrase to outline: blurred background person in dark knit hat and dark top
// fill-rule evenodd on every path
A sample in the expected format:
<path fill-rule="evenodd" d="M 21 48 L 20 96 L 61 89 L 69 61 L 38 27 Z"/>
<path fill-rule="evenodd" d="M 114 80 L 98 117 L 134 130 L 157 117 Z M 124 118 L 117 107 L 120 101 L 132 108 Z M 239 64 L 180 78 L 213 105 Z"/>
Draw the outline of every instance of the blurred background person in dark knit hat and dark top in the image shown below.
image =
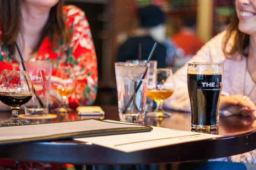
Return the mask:
<path fill-rule="evenodd" d="M 157 67 L 164 68 L 166 65 L 164 13 L 155 5 L 138 8 L 137 13 L 140 27 L 120 45 L 117 54 L 118 61 L 125 62 L 126 60 L 138 59 L 139 44 L 141 44 L 141 59 L 147 60 L 154 43 L 157 42 L 158 44 L 151 60 L 157 60 Z"/>

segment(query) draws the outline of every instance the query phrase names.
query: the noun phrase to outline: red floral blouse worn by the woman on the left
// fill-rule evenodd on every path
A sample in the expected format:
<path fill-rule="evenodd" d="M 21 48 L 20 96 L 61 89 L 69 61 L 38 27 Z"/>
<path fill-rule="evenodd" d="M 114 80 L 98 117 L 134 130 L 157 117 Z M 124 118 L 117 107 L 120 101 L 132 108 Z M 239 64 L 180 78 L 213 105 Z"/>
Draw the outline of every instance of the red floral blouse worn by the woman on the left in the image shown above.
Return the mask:
<path fill-rule="evenodd" d="M 70 107 L 92 105 L 98 89 L 98 72 L 90 26 L 84 11 L 78 7 L 67 5 L 62 9 L 66 16 L 70 43 L 67 47 L 63 47 L 60 41 L 59 48 L 51 48 L 48 37 L 45 37 L 35 60 L 52 60 L 54 66 L 64 63 L 72 65 L 77 75 L 77 86 L 76 91 L 68 99 L 69 105 Z M 7 48 L 0 46 L 0 72 L 19 69 L 15 57 L 9 55 Z"/>

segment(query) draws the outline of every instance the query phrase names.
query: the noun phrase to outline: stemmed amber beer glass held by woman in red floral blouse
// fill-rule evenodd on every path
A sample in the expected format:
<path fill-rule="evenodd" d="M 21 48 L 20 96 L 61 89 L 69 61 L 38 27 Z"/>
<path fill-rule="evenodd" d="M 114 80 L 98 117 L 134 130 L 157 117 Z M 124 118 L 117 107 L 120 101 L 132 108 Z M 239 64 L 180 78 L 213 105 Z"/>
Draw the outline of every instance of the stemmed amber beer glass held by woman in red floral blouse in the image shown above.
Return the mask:
<path fill-rule="evenodd" d="M 53 109 L 53 111 L 57 113 L 74 112 L 74 110 L 69 108 L 67 104 L 68 97 L 75 92 L 76 89 L 76 76 L 72 66 L 59 66 L 53 68 L 52 75 L 59 78 L 58 81 L 52 82 L 51 86 L 62 96 L 64 103 L 64 105 Z"/>

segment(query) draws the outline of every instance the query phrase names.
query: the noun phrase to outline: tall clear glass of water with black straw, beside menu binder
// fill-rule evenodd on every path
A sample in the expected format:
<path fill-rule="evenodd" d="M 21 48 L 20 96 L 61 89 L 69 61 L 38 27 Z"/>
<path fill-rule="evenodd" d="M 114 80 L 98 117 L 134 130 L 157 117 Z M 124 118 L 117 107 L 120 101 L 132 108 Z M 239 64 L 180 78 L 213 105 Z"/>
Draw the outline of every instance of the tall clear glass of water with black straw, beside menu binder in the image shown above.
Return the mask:
<path fill-rule="evenodd" d="M 134 123 L 144 121 L 148 68 L 147 63 L 115 63 L 120 121 Z M 136 92 L 138 85 L 140 87 Z"/>

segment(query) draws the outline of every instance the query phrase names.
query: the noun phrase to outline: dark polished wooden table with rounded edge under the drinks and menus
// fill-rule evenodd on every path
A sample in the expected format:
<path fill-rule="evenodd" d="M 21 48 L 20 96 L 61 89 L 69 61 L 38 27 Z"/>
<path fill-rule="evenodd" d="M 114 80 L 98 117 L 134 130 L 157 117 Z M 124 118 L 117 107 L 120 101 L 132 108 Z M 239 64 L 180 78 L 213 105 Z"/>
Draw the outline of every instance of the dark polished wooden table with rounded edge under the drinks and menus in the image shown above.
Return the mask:
<path fill-rule="evenodd" d="M 102 106 L 105 119 L 118 120 L 117 106 Z M 0 120 L 11 116 L 0 113 Z M 58 115 L 52 122 L 80 120 L 76 113 Z M 51 122 L 51 121 L 49 121 Z M 190 113 L 172 112 L 170 118 L 145 119 L 145 124 L 190 131 Z M 256 149 L 256 120 L 220 117 L 219 128 L 207 133 L 224 137 L 125 153 L 73 140 L 0 145 L 0 159 L 87 165 L 154 164 L 226 157 Z M 1 134 L 1 128 L 0 128 Z"/>

